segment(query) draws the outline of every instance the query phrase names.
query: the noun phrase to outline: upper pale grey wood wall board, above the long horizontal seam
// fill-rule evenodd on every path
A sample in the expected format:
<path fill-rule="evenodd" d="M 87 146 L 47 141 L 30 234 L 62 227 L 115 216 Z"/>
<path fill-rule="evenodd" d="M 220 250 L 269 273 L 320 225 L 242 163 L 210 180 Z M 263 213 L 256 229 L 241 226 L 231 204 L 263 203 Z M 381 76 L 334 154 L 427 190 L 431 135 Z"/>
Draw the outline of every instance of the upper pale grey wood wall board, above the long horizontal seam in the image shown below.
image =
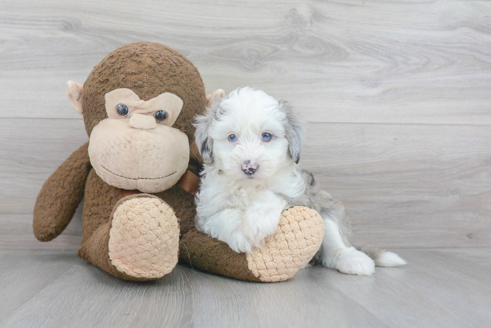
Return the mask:
<path fill-rule="evenodd" d="M 312 122 L 491 124 L 485 1 L 1 4 L 0 117 L 75 118 L 66 81 L 149 40 L 187 56 L 207 91 L 252 85 Z"/>

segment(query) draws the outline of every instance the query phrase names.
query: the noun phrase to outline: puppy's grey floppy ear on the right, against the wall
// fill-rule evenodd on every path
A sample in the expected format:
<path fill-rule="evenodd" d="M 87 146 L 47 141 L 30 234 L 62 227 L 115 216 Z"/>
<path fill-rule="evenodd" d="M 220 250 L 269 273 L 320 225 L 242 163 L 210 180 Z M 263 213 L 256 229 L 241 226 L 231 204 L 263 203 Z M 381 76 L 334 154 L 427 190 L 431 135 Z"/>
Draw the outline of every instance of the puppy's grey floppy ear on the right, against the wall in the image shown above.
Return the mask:
<path fill-rule="evenodd" d="M 290 157 L 298 164 L 300 161 L 300 151 L 304 143 L 305 122 L 298 118 L 288 102 L 280 100 L 279 104 L 287 116 L 286 137 L 288 140 L 288 151 Z"/>

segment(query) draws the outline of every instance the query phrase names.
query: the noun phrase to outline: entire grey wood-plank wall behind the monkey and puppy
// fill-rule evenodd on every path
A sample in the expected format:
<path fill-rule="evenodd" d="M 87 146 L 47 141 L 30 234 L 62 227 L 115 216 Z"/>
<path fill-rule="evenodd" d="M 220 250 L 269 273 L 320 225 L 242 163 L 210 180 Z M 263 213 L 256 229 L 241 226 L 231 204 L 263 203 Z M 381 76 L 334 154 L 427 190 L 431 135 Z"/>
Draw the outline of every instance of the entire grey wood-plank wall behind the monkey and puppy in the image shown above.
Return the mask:
<path fill-rule="evenodd" d="M 87 140 L 65 85 L 140 40 L 187 56 L 207 92 L 289 100 L 356 241 L 491 245 L 491 2 L 1 0 L 0 247 L 78 247 L 80 209 L 32 235 L 43 182 Z"/>

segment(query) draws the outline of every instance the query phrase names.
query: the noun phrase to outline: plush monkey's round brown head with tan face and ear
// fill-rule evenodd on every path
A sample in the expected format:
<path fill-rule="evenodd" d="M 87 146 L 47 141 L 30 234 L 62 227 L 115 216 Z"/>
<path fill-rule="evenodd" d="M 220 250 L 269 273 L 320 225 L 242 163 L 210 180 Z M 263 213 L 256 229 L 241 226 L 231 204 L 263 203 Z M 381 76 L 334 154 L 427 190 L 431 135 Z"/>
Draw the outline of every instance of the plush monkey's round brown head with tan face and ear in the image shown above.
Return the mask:
<path fill-rule="evenodd" d="M 83 115 L 89 157 L 108 184 L 142 192 L 172 187 L 199 154 L 193 117 L 206 106 L 198 70 L 159 43 L 116 49 L 67 95 Z"/>

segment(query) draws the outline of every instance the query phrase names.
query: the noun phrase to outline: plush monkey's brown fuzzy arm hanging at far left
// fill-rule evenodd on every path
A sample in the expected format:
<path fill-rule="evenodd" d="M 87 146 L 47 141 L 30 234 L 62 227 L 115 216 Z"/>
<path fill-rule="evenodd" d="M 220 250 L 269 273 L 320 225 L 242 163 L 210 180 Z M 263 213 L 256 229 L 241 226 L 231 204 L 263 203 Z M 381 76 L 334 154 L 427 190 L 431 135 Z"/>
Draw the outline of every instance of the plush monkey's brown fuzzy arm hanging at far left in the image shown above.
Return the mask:
<path fill-rule="evenodd" d="M 89 142 L 77 149 L 46 180 L 34 206 L 34 235 L 50 241 L 66 228 L 84 197 L 91 169 Z"/>

